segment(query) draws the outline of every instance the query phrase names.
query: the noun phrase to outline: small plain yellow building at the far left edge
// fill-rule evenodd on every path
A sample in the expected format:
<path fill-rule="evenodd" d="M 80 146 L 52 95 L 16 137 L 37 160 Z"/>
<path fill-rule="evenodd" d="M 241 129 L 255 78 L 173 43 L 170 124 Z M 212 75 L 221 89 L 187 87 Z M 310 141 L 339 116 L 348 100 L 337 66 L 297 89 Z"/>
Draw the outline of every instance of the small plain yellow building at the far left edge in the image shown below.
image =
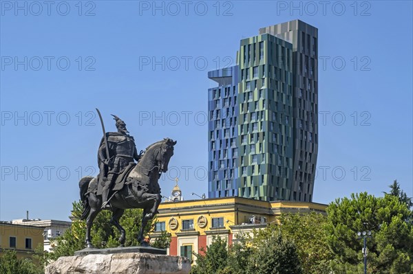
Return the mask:
<path fill-rule="evenodd" d="M 44 227 L 14 225 L 0 222 L 0 255 L 4 250 L 15 250 L 17 258 L 28 258 L 39 245 L 43 247 Z"/>

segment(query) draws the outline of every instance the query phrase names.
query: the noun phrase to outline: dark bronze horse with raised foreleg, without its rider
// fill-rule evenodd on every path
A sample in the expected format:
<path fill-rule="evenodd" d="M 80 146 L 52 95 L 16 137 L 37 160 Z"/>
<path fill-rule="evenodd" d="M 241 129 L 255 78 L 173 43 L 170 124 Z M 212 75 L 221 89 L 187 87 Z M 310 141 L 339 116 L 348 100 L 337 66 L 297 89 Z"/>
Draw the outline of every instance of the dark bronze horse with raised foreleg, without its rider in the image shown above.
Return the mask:
<path fill-rule="evenodd" d="M 147 245 L 144 242 L 143 232 L 147 222 L 158 212 L 158 206 L 161 202 L 160 187 L 158 179 L 162 172 L 167 172 L 169 159 L 173 155 L 173 146 L 176 141 L 165 138 L 157 141 L 147 147 L 144 155 L 138 161 L 138 164 L 131 170 L 125 170 L 129 174 L 125 175 L 125 183 L 120 190 L 112 193 L 110 198 L 111 207 L 105 208 L 112 210 L 111 223 L 120 231 L 120 247 L 125 247 L 125 229 L 120 226 L 119 219 L 122 217 L 125 209 L 142 208 L 143 218 L 138 234 L 138 242 L 141 245 Z M 83 203 L 83 213 L 81 220 L 86 220 L 86 237 L 85 243 L 87 248 L 93 248 L 90 237 L 90 229 L 98 213 L 103 210 L 102 196 L 97 195 L 98 179 L 92 176 L 85 176 L 79 181 L 81 201 Z"/>

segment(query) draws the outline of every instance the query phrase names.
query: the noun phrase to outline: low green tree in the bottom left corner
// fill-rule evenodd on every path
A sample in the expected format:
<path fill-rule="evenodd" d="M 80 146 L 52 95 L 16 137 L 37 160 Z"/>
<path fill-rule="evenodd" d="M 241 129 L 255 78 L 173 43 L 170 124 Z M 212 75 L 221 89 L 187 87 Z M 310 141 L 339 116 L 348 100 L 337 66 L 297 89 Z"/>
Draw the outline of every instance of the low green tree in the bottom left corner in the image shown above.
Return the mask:
<path fill-rule="evenodd" d="M 1 274 L 41 274 L 42 269 L 30 259 L 17 259 L 16 251 L 5 250 L 0 257 Z"/>

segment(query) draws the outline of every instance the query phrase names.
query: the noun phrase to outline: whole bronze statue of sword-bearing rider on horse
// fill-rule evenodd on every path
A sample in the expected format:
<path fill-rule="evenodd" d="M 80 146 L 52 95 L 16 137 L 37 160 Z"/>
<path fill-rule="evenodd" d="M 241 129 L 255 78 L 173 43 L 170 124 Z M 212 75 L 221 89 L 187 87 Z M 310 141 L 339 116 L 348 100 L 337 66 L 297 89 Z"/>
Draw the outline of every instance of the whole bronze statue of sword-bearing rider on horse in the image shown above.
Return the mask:
<path fill-rule="evenodd" d="M 113 115 L 118 132 L 105 133 L 99 111 L 98 114 L 104 133 L 98 150 L 100 172 L 97 177 L 85 176 L 79 182 L 83 203 L 81 219 L 86 220 L 86 246 L 93 247 L 90 230 L 94 218 L 101 210 L 108 209 L 112 211 L 112 224 L 120 231 L 120 247 L 124 247 L 125 229 L 120 226 L 119 219 L 129 208 L 143 209 L 138 242 L 146 245 L 143 231 L 158 212 L 162 197 L 158 179 L 162 172 L 168 170 L 176 141 L 165 138 L 138 155 L 134 137 L 129 135 L 125 122 Z"/>

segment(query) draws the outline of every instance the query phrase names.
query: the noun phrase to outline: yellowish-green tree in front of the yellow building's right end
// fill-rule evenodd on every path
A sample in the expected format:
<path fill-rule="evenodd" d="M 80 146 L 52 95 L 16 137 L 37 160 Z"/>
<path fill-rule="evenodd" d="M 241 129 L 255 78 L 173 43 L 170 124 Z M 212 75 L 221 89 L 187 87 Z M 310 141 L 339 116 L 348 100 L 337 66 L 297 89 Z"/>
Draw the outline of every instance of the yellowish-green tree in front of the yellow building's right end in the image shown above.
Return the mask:
<path fill-rule="evenodd" d="M 327 216 L 310 214 L 282 214 L 281 225 L 271 224 L 269 229 L 279 229 L 284 238 L 293 240 L 303 272 L 307 274 L 330 273 L 332 253 L 327 245 L 325 226 Z"/>

